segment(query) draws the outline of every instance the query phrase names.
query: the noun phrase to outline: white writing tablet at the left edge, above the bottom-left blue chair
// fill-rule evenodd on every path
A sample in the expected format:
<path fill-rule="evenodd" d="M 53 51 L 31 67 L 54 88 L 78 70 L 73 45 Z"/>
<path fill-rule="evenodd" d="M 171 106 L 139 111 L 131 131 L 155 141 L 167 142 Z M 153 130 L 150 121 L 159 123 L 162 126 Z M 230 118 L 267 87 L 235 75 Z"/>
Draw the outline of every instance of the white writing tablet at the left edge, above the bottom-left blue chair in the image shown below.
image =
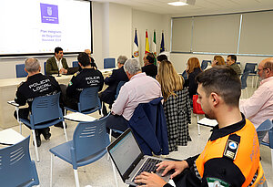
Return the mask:
<path fill-rule="evenodd" d="M 12 130 L 12 129 L 1 130 L 0 131 L 0 148 L 13 145 L 24 139 L 25 137 L 15 130 Z"/>

